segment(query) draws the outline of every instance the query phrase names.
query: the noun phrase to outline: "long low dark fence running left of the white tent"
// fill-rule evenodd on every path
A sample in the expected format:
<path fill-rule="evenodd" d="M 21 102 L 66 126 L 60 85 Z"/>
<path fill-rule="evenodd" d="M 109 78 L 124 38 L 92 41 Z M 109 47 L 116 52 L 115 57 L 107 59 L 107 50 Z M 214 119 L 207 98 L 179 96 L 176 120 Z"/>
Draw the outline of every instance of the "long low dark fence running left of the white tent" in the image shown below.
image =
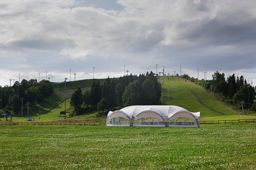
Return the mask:
<path fill-rule="evenodd" d="M 106 125 L 102 122 L 0 122 L 0 125 Z"/>

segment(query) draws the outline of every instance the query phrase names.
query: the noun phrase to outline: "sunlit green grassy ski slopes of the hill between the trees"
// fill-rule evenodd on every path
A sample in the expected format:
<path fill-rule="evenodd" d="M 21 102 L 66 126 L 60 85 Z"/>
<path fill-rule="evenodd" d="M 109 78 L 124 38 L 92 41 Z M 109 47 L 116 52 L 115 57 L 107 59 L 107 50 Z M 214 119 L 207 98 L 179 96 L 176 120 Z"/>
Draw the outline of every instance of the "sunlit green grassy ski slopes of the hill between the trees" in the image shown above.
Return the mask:
<path fill-rule="evenodd" d="M 168 95 L 168 78 L 169 78 L 169 100 L 167 100 Z M 106 79 L 94 79 L 95 82 L 100 82 L 103 84 Z M 163 77 L 159 77 L 159 81 L 163 82 Z M 36 107 L 29 110 L 29 116 L 35 117 L 36 121 L 58 121 L 63 120 L 64 117 L 60 117 L 60 111 L 65 111 L 64 99 L 66 96 L 66 117 L 69 113 L 72 113 L 73 108 L 70 106 L 70 97 L 74 91 L 80 87 L 83 92 L 89 90 L 93 79 L 88 80 L 78 80 L 66 82 L 53 83 L 54 93 L 47 100 L 39 103 Z M 58 96 L 57 96 L 58 95 Z M 230 106 L 226 106 L 219 102 L 216 98 L 217 96 L 212 95 L 210 91 L 206 91 L 203 87 L 192 82 L 182 81 L 180 76 L 164 76 L 164 87 L 163 87 L 163 105 L 177 105 L 183 107 L 191 112 L 201 113 L 201 120 L 238 120 L 245 119 L 245 116 L 234 116 L 242 115 L 242 112 L 235 111 Z M 59 105 L 58 105 L 59 104 Z M 57 106 L 56 106 L 57 105 Z M 39 118 L 39 111 L 44 113 Z M 104 118 L 95 119 L 95 115 L 98 111 L 87 112 L 85 114 L 74 116 L 72 118 L 66 119 L 72 121 L 73 119 L 84 119 L 85 121 L 105 121 Z M 250 112 L 251 116 L 256 116 L 255 112 Z M 21 113 L 19 114 L 21 115 Z M 27 110 L 23 109 L 23 117 L 14 118 L 14 121 L 25 121 L 27 116 Z"/>

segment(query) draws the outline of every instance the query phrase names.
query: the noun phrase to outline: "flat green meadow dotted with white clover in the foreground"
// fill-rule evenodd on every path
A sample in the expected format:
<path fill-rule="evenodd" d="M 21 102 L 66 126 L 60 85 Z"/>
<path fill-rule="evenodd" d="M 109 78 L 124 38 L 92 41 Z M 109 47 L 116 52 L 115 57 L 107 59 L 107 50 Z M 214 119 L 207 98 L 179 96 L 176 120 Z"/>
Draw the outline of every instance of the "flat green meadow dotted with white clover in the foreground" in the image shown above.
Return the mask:
<path fill-rule="evenodd" d="M 0 169 L 256 169 L 255 124 L 0 126 Z"/>

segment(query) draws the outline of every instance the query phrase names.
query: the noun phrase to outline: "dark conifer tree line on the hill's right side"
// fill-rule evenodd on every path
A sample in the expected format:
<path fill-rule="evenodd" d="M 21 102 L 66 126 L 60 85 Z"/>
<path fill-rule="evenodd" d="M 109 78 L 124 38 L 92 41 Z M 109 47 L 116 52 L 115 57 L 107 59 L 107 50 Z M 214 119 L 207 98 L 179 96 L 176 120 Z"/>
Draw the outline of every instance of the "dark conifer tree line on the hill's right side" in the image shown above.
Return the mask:
<path fill-rule="evenodd" d="M 244 101 L 244 108 L 256 111 L 256 106 L 252 105 L 256 99 L 255 88 L 250 85 L 250 82 L 246 81 L 244 76 L 236 77 L 233 73 L 233 75 L 229 75 L 226 78 L 224 73 L 216 71 L 214 75 L 212 75 L 212 80 L 198 80 L 186 74 L 184 74 L 183 77 L 191 82 L 196 82 L 196 84 L 203 86 L 205 89 L 210 89 L 212 86 L 214 93 L 223 95 L 221 101 L 238 107 L 241 107 L 240 101 Z M 249 103 L 251 103 L 250 108 Z"/>

